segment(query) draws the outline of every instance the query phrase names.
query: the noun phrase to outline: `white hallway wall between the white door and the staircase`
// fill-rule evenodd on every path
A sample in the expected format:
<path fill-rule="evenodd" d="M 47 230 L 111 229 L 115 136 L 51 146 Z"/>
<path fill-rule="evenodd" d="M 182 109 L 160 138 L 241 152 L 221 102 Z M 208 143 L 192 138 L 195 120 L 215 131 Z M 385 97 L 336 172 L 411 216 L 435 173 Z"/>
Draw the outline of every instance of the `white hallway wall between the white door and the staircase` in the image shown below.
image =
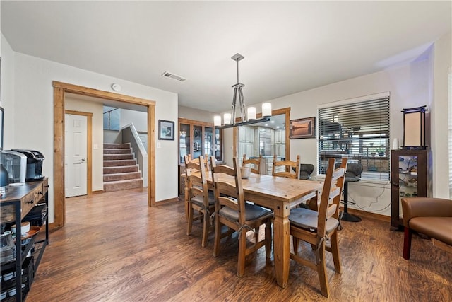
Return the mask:
<path fill-rule="evenodd" d="M 66 110 L 93 113 L 93 146 L 90 146 L 93 153 L 92 185 L 93 191 L 102 191 L 104 190 L 103 105 L 102 103 L 90 102 L 89 100 L 77 100 L 66 95 L 64 108 Z M 95 146 L 97 146 L 97 149 L 95 149 Z"/>

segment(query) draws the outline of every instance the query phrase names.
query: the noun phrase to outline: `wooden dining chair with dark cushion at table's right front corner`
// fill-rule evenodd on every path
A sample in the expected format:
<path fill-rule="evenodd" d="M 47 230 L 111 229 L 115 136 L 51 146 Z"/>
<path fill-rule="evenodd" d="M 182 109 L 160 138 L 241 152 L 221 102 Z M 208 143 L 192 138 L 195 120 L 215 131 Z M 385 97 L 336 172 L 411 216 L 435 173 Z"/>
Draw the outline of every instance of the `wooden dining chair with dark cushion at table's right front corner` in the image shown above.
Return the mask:
<path fill-rule="evenodd" d="M 340 257 L 338 249 L 338 226 L 340 197 L 343 190 L 347 158 L 343 158 L 340 166 L 335 167 L 335 159 L 330 158 L 326 170 L 325 182 L 321 192 L 319 211 L 305 208 L 290 210 L 290 235 L 293 238 L 294 250 L 290 258 L 314 269 L 319 274 L 320 289 L 323 296 L 328 297 L 328 281 L 326 278 L 325 251 L 333 255 L 334 270 L 340 274 Z M 298 253 L 299 240 L 311 244 L 316 261 L 302 257 Z"/>

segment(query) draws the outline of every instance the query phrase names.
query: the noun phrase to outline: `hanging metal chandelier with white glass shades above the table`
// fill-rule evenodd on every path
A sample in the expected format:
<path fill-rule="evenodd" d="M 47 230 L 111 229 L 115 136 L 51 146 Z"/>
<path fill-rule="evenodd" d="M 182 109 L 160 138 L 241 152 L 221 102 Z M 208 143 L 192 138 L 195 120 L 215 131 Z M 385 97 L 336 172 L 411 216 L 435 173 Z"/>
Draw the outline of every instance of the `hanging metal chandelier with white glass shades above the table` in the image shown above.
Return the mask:
<path fill-rule="evenodd" d="M 237 83 L 232 85 L 234 88 L 234 98 L 232 98 L 232 108 L 231 113 L 225 113 L 223 115 L 223 122 L 221 124 L 221 116 L 215 115 L 213 117 L 213 124 L 215 128 L 223 129 L 230 127 L 237 127 L 246 124 L 256 124 L 258 122 L 268 122 L 271 117 L 271 103 L 263 103 L 262 104 L 262 117 L 260 119 L 256 119 L 256 107 L 249 107 L 246 109 L 245 100 L 243 98 L 242 87 L 245 85 L 240 83 L 239 81 L 239 61 L 244 59 L 245 57 L 242 54 L 234 54 L 231 59 L 237 62 Z M 236 120 L 236 111 L 237 111 L 237 98 L 239 99 L 239 108 L 240 108 L 240 120 L 237 122 Z"/>

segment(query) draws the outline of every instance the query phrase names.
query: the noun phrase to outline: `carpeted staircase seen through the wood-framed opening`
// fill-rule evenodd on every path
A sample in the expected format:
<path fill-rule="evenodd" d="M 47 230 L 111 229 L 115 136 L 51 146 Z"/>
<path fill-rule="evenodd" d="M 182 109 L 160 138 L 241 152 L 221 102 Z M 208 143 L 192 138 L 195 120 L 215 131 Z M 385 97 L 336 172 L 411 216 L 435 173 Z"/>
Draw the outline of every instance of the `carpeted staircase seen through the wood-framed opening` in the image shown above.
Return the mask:
<path fill-rule="evenodd" d="M 143 179 L 130 144 L 104 144 L 104 192 L 136 187 L 143 187 Z"/>

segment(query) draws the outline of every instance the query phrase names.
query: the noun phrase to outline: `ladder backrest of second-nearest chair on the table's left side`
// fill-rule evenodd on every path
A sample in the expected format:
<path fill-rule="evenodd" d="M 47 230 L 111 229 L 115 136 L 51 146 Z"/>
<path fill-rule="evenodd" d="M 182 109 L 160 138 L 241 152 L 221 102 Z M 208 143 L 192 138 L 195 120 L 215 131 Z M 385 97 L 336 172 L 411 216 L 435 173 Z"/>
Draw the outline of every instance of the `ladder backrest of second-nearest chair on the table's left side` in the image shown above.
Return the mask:
<path fill-rule="evenodd" d="M 188 194 L 189 199 L 197 196 L 203 195 L 204 205 L 208 207 L 209 198 L 208 198 L 208 185 L 207 185 L 207 170 L 206 165 L 204 164 L 203 156 L 199 156 L 199 158 L 190 161 L 189 156 L 184 156 L 185 160 L 185 169 L 186 169 L 186 181 L 188 182 Z M 199 172 L 199 174 L 195 174 Z M 199 175 L 199 176 L 198 176 Z M 206 192 L 206 194 L 204 194 Z"/>

